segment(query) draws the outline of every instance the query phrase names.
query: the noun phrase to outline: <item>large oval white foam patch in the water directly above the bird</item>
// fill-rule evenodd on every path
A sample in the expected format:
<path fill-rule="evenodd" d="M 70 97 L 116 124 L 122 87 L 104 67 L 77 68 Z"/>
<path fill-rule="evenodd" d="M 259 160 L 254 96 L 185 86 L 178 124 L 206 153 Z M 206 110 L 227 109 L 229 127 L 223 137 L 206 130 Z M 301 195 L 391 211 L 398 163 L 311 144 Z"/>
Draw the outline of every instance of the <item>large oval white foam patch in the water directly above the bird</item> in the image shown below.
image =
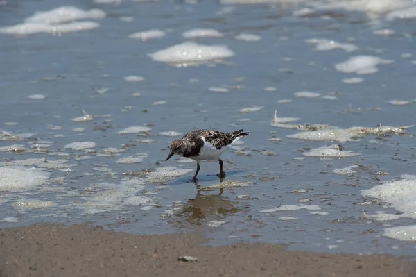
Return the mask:
<path fill-rule="evenodd" d="M 194 42 L 183 42 L 163 50 L 148 54 L 157 62 L 169 64 L 200 63 L 211 60 L 222 60 L 234 56 L 234 52 L 225 45 L 202 45 Z"/>

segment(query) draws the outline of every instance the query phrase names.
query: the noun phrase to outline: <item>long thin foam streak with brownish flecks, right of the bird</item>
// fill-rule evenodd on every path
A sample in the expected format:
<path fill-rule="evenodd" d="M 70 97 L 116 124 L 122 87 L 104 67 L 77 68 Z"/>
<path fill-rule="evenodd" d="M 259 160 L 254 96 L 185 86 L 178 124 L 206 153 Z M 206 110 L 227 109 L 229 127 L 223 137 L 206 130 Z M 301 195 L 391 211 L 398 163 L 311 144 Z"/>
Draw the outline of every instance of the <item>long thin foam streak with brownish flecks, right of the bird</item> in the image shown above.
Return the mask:
<path fill-rule="evenodd" d="M 323 130 L 300 132 L 287 137 L 297 140 L 315 140 L 315 141 L 337 141 L 337 142 L 354 142 L 358 137 L 367 135 L 379 135 L 383 133 L 406 133 L 405 127 L 381 126 L 381 127 L 352 127 L 347 129 L 327 128 Z"/>

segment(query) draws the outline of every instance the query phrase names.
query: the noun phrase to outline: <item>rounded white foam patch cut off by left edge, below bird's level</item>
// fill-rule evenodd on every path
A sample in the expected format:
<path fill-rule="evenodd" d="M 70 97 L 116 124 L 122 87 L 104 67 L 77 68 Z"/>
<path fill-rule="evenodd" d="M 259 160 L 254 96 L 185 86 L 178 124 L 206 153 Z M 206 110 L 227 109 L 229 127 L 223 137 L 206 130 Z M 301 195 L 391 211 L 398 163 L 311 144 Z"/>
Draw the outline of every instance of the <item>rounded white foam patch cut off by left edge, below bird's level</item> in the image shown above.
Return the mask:
<path fill-rule="evenodd" d="M 49 180 L 50 172 L 27 167 L 0 167 L 0 191 L 26 192 Z"/>

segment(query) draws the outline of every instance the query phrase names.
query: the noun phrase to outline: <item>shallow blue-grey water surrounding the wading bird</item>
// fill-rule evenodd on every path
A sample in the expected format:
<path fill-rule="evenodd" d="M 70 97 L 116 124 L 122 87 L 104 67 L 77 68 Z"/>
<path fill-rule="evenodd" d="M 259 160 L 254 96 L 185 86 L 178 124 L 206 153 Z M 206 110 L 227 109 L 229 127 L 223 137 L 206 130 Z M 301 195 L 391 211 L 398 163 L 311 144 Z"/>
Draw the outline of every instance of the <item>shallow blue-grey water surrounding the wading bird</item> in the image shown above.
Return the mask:
<path fill-rule="evenodd" d="M 117 3 L 8 1 L 0 6 L 0 26 L 20 24 L 36 11 L 64 4 L 107 14 L 88 19 L 99 23 L 89 31 L 0 34 L 1 129 L 10 135 L 31 134 L 17 141 L 0 135 L 0 147 L 15 149 L 1 151 L 0 228 L 89 221 L 129 233 L 203 230 L 211 244 L 271 242 L 311 251 L 414 255 L 414 242 L 383 233 L 392 226 L 415 224 L 415 219 L 372 219 L 376 212 L 400 212 L 363 197 L 362 190 L 415 174 L 416 128 L 400 135 L 318 142 L 288 138 L 301 131 L 270 126 L 275 110 L 278 118 L 301 118 L 288 124 L 414 124 L 414 19 L 389 21 L 388 11 L 374 16 L 343 8 L 297 16 L 295 11 L 307 2 Z M 148 56 L 182 44 L 182 33 L 193 28 L 222 33 L 193 41 L 226 46 L 234 56 L 186 66 Z M 395 34 L 373 35 L 386 28 Z M 149 29 L 166 35 L 146 41 L 129 37 Z M 241 33 L 261 39 L 236 39 Z M 358 49 L 317 51 L 306 42 L 321 38 Z M 371 74 L 336 70 L 336 64 L 364 55 L 394 62 L 367 65 L 363 70 Z M 363 82 L 343 82 L 346 78 Z M 295 92 L 321 95 L 309 98 L 304 96 L 317 95 Z M 410 103 L 389 103 L 395 99 Z M 73 120 L 77 117 L 91 120 Z M 123 131 L 132 126 L 151 131 Z M 223 183 L 215 176 L 217 162 L 202 162 L 194 185 L 189 180 L 195 162 L 175 156 L 164 161 L 168 142 L 180 137 L 168 135 L 193 128 L 250 131 L 244 144 L 223 155 Z M 281 140 L 269 140 L 273 137 Z M 76 151 L 68 145 L 73 142 L 96 145 Z M 359 155 L 303 155 L 331 144 Z M 33 158 L 37 160 L 28 160 Z M 333 172 L 352 165 L 358 165 L 350 168 L 355 172 Z M 211 187 L 218 184 L 221 189 Z"/>

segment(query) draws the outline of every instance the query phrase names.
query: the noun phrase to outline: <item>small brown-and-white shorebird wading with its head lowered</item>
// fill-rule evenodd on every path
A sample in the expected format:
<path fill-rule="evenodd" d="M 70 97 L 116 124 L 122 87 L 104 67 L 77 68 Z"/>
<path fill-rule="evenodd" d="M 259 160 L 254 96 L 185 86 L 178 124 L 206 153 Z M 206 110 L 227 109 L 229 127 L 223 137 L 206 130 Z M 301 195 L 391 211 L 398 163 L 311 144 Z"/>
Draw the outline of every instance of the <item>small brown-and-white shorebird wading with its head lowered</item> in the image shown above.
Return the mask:
<path fill-rule="evenodd" d="M 228 146 L 234 142 L 250 135 L 248 132 L 243 133 L 243 129 L 231 133 L 224 133 L 215 130 L 196 130 L 185 134 L 180 140 L 173 140 L 169 145 L 171 152 L 166 160 L 177 154 L 182 157 L 196 160 L 196 172 L 192 178 L 196 182 L 196 176 L 200 171 L 200 160 L 218 160 L 220 163 L 220 173 L 218 176 L 223 178 L 223 160 L 220 159 L 222 153 L 227 151 Z"/>

